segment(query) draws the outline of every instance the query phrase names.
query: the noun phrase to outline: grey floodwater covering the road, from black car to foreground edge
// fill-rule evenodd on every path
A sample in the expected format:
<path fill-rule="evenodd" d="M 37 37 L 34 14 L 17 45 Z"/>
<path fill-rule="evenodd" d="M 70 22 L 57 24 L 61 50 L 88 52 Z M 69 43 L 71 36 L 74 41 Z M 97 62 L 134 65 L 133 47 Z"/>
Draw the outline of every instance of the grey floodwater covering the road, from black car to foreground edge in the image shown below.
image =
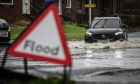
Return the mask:
<path fill-rule="evenodd" d="M 84 41 L 68 41 L 72 56 L 72 78 L 84 80 L 84 77 L 97 75 L 109 70 L 140 69 L 140 32 L 130 33 L 128 41 L 85 43 Z M 2 58 L 1 52 L 1 58 Z M 63 66 L 48 62 L 28 61 L 31 74 L 39 73 L 62 75 Z M 23 72 L 23 59 L 8 57 L 6 68 Z M 77 78 L 81 79 L 77 79 Z M 89 78 L 92 80 L 92 78 Z M 87 80 L 88 81 L 88 80 Z"/>

